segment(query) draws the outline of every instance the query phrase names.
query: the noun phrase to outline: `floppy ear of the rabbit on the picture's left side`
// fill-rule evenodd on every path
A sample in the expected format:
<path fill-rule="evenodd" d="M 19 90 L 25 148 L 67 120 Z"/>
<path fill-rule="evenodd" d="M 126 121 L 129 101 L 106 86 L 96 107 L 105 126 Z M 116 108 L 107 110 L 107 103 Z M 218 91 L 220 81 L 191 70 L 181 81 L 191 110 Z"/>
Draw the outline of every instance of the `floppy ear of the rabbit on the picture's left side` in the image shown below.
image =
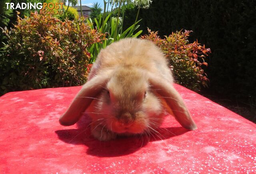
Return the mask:
<path fill-rule="evenodd" d="M 107 76 L 95 76 L 87 81 L 72 101 L 68 110 L 60 117 L 61 125 L 74 125 L 83 112 L 90 106 L 93 99 L 104 89 L 108 81 Z"/>

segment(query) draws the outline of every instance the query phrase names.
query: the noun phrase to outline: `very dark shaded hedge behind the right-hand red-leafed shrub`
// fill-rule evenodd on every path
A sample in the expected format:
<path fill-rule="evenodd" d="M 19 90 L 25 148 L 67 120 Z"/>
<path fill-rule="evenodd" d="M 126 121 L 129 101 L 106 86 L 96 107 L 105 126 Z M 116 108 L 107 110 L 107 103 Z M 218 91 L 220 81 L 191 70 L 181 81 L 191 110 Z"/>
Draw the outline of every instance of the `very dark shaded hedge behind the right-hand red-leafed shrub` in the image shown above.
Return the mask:
<path fill-rule="evenodd" d="M 192 30 L 189 40 L 198 39 L 212 51 L 206 69 L 210 91 L 248 100 L 256 98 L 255 7 L 255 0 L 153 0 L 138 18 L 145 34 L 148 27 L 161 38 Z M 136 18 L 136 10 L 128 8 L 124 21 Z"/>

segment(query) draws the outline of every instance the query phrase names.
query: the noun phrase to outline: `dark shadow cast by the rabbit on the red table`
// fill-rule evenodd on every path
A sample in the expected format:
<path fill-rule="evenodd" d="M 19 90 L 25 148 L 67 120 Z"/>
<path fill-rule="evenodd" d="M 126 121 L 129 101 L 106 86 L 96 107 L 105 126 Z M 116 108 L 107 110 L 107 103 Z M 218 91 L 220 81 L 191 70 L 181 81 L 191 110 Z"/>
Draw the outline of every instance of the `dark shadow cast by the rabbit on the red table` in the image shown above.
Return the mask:
<path fill-rule="evenodd" d="M 114 157 L 136 152 L 148 144 L 148 142 L 165 140 L 189 131 L 183 127 L 159 128 L 157 130 L 159 134 L 155 134 L 154 136 L 151 135 L 150 138 L 146 135 L 130 136 L 119 137 L 115 140 L 102 142 L 90 135 L 89 124 L 90 118 L 87 115 L 84 115 L 77 123 L 78 129 L 56 130 L 55 132 L 58 135 L 58 138 L 66 143 L 84 144 L 87 146 L 87 154 L 100 157 Z"/>

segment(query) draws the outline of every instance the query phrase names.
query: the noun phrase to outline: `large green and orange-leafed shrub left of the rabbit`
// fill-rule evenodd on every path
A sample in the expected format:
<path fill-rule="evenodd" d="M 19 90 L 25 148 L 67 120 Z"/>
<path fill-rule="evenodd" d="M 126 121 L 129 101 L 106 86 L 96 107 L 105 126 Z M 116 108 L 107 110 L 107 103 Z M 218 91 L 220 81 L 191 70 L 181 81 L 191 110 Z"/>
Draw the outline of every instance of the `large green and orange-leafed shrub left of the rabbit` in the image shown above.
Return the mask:
<path fill-rule="evenodd" d="M 83 19 L 60 21 L 37 12 L 18 17 L 0 49 L 0 93 L 82 85 L 90 61 L 88 47 L 104 39 Z"/>

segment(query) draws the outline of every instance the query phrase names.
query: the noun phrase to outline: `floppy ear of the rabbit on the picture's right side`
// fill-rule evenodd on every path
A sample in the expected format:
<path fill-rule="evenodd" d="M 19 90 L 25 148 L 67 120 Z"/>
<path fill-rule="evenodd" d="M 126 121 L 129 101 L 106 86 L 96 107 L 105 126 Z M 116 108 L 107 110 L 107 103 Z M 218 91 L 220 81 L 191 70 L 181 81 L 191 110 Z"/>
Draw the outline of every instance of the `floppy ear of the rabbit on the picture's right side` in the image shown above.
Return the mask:
<path fill-rule="evenodd" d="M 180 123 L 180 125 L 182 125 L 182 127 L 189 130 L 197 129 L 196 124 L 190 116 L 181 96 L 171 84 L 162 78 L 157 78 L 156 76 L 151 76 L 149 78 L 149 82 L 150 85 L 152 85 L 152 88 L 156 90 L 155 92 L 164 98 L 167 105 L 172 110 L 175 119 Z"/>

